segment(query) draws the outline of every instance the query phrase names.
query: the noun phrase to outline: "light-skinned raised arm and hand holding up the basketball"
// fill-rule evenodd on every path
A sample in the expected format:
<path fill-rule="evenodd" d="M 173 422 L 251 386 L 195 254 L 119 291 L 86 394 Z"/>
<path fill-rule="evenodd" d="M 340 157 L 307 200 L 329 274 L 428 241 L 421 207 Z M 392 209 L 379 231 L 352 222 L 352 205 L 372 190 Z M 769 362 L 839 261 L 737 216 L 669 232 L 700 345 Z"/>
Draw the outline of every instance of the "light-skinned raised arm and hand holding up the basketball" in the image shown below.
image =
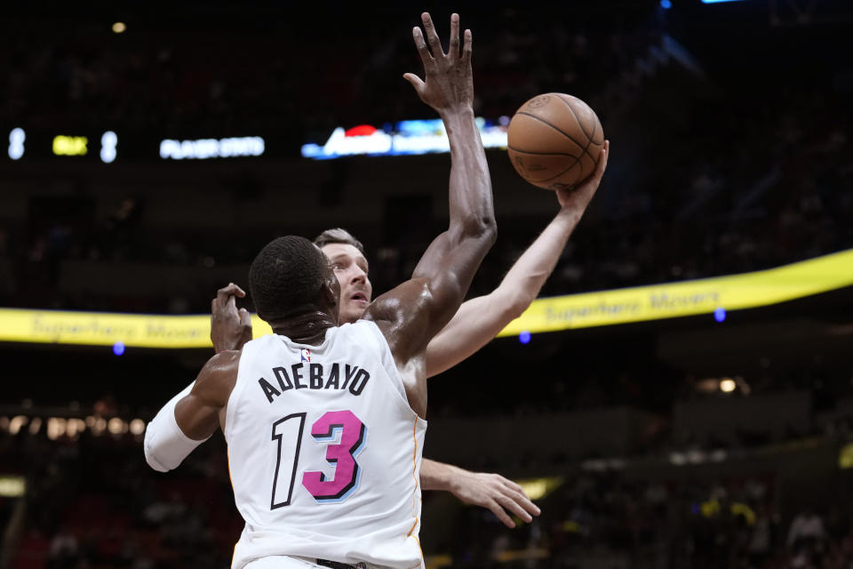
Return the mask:
<path fill-rule="evenodd" d="M 610 142 L 604 141 L 594 174 L 577 188 L 557 190 L 560 212 L 515 261 L 498 288 L 466 301 L 426 348 L 426 376 L 457 365 L 489 343 L 530 306 L 554 271 L 571 232 L 595 195 L 607 167 Z"/>

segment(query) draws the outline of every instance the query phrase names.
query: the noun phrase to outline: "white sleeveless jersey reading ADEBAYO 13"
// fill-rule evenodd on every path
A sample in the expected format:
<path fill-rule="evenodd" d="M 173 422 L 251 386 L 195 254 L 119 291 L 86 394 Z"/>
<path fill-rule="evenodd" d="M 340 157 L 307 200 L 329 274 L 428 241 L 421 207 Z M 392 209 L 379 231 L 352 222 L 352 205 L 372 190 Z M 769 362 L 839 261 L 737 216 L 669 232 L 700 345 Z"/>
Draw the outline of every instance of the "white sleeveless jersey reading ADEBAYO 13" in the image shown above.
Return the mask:
<path fill-rule="evenodd" d="M 319 346 L 248 342 L 225 425 L 246 522 L 232 568 L 267 556 L 423 567 L 425 433 L 372 322 L 331 328 Z"/>

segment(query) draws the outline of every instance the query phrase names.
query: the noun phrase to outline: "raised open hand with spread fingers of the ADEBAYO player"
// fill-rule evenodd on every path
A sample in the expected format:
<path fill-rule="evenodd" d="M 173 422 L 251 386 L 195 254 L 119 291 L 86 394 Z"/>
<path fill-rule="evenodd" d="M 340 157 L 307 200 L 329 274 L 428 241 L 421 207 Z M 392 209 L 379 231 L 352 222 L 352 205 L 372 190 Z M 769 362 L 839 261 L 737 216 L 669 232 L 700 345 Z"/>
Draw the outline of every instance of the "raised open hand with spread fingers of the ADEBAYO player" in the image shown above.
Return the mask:
<path fill-rule="evenodd" d="M 442 50 L 442 42 L 428 12 L 421 14 L 426 30 L 426 40 L 420 28 L 413 28 L 415 46 L 424 63 L 426 81 L 413 73 L 403 74 L 418 92 L 420 100 L 442 113 L 456 108 L 473 108 L 474 80 L 471 73 L 471 30 L 465 30 L 465 43 L 459 54 L 459 15 L 450 16 L 450 44 L 448 52 Z M 429 42 L 429 47 L 426 47 Z M 430 53 L 432 51 L 432 53 Z"/>

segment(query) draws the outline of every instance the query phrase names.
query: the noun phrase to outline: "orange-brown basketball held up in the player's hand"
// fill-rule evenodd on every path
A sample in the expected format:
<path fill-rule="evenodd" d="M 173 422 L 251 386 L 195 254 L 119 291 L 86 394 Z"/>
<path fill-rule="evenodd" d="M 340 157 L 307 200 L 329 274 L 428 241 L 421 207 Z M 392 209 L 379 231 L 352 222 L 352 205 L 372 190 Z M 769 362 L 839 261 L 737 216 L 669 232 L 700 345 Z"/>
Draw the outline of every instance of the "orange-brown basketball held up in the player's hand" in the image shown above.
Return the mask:
<path fill-rule="evenodd" d="M 602 123 L 583 100 L 549 92 L 528 100 L 509 123 L 507 152 L 534 186 L 574 188 L 595 171 L 604 146 Z"/>

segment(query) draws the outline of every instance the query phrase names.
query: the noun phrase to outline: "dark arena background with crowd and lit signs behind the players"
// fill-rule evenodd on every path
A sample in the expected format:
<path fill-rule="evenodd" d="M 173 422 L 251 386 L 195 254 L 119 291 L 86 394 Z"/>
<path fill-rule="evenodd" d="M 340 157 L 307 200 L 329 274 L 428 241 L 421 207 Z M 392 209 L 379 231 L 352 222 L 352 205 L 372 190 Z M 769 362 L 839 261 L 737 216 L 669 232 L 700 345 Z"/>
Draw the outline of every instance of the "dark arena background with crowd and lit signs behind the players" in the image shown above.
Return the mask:
<path fill-rule="evenodd" d="M 349 229 L 382 293 L 447 227 L 402 78 L 424 10 L 474 32 L 498 242 L 469 296 L 558 211 L 506 156 L 522 102 L 586 100 L 612 155 L 546 319 L 429 384 L 424 456 L 542 513 L 425 492 L 426 566 L 853 566 L 853 3 L 309 4 L 4 4 L 0 569 L 229 565 L 222 436 L 160 474 L 146 422 L 272 237 Z"/>

